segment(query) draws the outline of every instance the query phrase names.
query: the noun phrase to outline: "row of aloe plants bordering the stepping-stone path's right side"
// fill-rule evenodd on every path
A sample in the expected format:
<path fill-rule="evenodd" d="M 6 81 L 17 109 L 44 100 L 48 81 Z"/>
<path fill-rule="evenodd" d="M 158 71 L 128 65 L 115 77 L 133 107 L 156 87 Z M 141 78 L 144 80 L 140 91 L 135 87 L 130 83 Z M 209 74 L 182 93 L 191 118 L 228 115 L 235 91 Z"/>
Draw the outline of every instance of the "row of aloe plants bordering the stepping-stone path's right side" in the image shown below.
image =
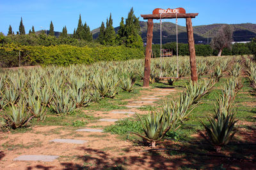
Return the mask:
<path fill-rule="evenodd" d="M 151 112 L 145 118 L 137 114 L 145 136 L 132 133 L 146 139 L 152 147 L 156 146 L 156 142 L 163 139 L 168 131 L 179 129 L 199 100 L 209 94 L 215 82 L 214 80 L 200 80 L 197 83 L 189 81 L 189 85 L 178 100 L 165 101 L 160 111 Z"/>

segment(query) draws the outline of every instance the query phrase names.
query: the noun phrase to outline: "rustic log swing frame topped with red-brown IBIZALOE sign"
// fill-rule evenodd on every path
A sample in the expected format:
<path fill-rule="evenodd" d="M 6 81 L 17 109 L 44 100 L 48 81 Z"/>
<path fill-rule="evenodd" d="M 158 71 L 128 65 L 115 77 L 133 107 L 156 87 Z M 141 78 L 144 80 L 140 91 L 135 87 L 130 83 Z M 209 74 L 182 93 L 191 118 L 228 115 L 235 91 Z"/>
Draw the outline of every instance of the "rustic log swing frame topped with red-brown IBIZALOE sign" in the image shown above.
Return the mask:
<path fill-rule="evenodd" d="M 186 27 L 188 33 L 188 45 L 189 45 L 189 61 L 191 68 L 191 80 L 197 81 L 196 73 L 196 52 L 195 52 L 195 42 L 193 36 L 193 27 L 191 18 L 195 18 L 198 13 L 186 13 L 184 8 L 175 8 L 167 10 L 156 8 L 153 11 L 153 14 L 141 15 L 144 20 L 148 20 L 148 30 L 147 30 L 147 46 L 145 54 L 145 68 L 144 68 L 144 78 L 143 78 L 143 87 L 149 86 L 150 79 L 150 62 L 151 62 L 151 53 L 152 53 L 152 39 L 153 39 L 153 19 L 164 19 L 164 18 L 186 18 Z"/>

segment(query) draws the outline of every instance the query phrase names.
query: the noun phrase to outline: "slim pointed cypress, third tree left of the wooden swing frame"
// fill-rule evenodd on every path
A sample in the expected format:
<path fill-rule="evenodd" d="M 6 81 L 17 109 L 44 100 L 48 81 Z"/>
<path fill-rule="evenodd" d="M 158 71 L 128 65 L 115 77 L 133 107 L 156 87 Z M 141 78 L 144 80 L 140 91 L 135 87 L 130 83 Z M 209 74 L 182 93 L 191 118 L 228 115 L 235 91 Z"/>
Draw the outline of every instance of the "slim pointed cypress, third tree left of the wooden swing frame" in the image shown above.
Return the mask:
<path fill-rule="evenodd" d="M 116 32 L 113 27 L 113 20 L 110 13 L 109 20 L 107 18 L 104 41 L 106 42 L 106 45 L 114 45 L 115 39 L 116 39 Z"/>

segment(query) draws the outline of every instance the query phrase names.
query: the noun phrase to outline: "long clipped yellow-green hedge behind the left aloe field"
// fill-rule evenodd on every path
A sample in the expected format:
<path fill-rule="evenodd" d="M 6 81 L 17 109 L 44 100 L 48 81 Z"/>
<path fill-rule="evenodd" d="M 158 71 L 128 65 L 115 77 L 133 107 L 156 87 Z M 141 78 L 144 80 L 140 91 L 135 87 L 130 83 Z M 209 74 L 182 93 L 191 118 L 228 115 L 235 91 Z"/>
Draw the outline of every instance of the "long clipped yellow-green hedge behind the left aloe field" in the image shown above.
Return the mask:
<path fill-rule="evenodd" d="M 144 57 L 143 51 L 125 46 L 6 45 L 0 48 L 1 65 L 3 67 L 18 66 L 19 51 L 23 66 L 36 64 L 68 66 L 69 64 L 90 64 L 101 60 L 129 60 Z"/>

